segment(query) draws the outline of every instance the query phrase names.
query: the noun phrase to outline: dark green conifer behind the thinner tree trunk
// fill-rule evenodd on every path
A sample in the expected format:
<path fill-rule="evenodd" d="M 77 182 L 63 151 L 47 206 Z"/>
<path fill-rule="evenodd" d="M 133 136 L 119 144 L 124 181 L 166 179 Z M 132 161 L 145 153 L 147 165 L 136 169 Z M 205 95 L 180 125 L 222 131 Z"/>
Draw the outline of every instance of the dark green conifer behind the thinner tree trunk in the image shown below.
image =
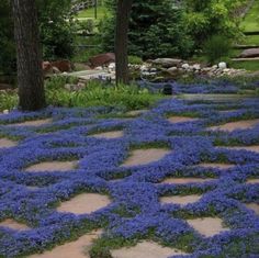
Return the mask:
<path fill-rule="evenodd" d="M 101 22 L 100 31 L 104 51 L 113 51 L 115 1 L 109 1 L 108 8 L 111 15 Z M 190 56 L 193 42 L 183 18 L 183 9 L 171 0 L 134 1 L 128 33 L 130 55 L 145 59 Z"/>

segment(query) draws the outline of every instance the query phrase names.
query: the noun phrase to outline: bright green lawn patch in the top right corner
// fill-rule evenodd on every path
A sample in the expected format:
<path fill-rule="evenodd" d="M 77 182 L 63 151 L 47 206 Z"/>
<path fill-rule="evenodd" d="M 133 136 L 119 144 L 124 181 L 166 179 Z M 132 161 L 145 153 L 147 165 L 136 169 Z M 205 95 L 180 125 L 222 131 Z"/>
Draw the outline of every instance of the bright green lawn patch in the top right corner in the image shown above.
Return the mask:
<path fill-rule="evenodd" d="M 259 1 L 256 0 L 251 10 L 240 24 L 244 32 L 259 31 Z"/>

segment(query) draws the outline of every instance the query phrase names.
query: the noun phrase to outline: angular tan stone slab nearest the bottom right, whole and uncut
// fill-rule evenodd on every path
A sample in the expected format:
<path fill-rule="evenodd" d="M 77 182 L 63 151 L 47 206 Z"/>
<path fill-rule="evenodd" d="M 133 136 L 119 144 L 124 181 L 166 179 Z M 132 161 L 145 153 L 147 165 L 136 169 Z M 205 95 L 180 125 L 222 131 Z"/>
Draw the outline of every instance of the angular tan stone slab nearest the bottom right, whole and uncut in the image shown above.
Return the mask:
<path fill-rule="evenodd" d="M 211 237 L 222 232 L 229 231 L 223 227 L 223 221 L 219 217 L 202 217 L 187 221 L 190 226 L 198 231 L 201 235 Z"/>

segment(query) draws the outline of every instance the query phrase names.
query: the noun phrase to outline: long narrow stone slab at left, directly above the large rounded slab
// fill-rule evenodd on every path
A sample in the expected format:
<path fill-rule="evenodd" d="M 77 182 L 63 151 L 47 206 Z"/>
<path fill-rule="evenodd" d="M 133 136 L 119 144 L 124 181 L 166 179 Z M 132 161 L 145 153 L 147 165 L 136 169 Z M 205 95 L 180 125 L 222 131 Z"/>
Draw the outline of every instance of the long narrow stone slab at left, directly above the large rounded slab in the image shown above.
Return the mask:
<path fill-rule="evenodd" d="M 25 169 L 27 172 L 43 172 L 43 171 L 70 171 L 77 166 L 77 161 L 46 161 L 35 164 Z"/>

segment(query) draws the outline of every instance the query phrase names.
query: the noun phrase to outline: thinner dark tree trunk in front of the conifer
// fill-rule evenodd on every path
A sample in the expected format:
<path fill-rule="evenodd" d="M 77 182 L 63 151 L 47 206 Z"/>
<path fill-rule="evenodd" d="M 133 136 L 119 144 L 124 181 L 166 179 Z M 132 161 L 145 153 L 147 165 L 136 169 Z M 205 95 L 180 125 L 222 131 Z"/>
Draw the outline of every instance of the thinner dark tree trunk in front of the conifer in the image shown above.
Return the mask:
<path fill-rule="evenodd" d="M 116 56 L 116 85 L 120 82 L 128 83 L 128 58 L 127 58 L 127 32 L 133 0 L 117 0 L 116 13 L 116 35 L 115 35 L 115 56 Z"/>

